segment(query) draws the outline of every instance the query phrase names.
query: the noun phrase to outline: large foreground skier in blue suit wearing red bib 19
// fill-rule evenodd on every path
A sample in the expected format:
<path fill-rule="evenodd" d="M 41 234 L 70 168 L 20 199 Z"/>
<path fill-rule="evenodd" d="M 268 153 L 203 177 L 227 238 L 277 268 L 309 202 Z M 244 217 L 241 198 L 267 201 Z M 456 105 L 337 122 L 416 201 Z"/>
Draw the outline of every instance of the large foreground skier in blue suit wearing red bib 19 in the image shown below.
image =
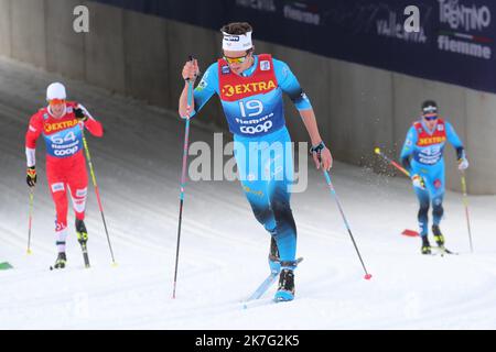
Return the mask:
<path fill-rule="evenodd" d="M 330 169 L 332 156 L 324 145 L 312 105 L 288 65 L 269 54 L 255 55 L 252 29 L 230 23 L 222 29 L 223 58 L 211 65 L 194 90 L 187 110 L 187 84 L 180 98 L 181 117 L 193 117 L 217 94 L 234 134 L 234 154 L 246 197 L 256 219 L 271 235 L 269 264 L 280 273 L 276 300 L 294 298 L 296 226 L 290 207 L 293 182 L 291 139 L 285 128 L 282 94 L 300 112 L 312 141 L 316 167 Z M 194 80 L 197 61 L 184 65 L 182 76 Z"/>

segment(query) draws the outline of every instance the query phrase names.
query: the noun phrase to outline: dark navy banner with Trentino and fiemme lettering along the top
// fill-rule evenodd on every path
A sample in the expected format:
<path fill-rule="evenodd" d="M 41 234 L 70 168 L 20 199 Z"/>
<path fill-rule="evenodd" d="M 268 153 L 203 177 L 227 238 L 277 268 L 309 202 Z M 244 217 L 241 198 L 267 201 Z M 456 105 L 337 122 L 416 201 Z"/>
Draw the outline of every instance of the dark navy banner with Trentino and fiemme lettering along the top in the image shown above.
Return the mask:
<path fill-rule="evenodd" d="M 213 30 L 242 20 L 256 40 L 496 92 L 494 0 L 96 1 Z M 411 4 L 420 29 L 407 33 Z"/>

